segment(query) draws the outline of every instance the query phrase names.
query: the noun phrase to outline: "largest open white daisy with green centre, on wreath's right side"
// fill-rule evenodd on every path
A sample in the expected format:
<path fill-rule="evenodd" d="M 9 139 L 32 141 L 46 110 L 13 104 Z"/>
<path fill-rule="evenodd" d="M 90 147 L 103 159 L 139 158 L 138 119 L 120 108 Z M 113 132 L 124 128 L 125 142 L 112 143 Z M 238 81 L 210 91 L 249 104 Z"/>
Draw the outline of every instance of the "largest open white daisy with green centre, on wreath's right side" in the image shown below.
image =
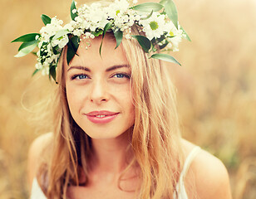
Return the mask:
<path fill-rule="evenodd" d="M 143 32 L 149 40 L 160 38 L 164 34 L 165 30 L 165 15 L 153 12 L 152 16 L 145 20 L 140 20 L 140 24 L 143 26 Z"/>

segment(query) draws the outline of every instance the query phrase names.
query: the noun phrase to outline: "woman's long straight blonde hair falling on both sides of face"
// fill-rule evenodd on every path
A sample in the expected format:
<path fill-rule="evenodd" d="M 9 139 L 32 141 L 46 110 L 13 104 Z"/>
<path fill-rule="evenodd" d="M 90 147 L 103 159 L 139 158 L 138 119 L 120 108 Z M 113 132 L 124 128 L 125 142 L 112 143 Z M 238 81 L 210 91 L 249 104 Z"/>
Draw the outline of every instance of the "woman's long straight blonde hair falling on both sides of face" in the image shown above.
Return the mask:
<path fill-rule="evenodd" d="M 139 33 L 135 27 L 132 28 L 132 34 Z M 137 41 L 124 39 L 120 47 L 130 64 L 135 103 L 135 124 L 130 144 L 134 159 L 125 172 L 135 163 L 140 166 L 138 198 L 173 198 L 174 193 L 177 195 L 175 187 L 183 166 L 175 87 L 162 62 L 148 59 Z M 42 163 L 37 175 L 49 199 L 66 198 L 70 184 L 86 185 L 87 160 L 91 154 L 91 138 L 72 119 L 68 109 L 63 61 L 57 69 L 57 81 L 59 84 L 52 99 L 52 155 Z M 78 167 L 85 172 L 84 182 L 79 180 Z"/>

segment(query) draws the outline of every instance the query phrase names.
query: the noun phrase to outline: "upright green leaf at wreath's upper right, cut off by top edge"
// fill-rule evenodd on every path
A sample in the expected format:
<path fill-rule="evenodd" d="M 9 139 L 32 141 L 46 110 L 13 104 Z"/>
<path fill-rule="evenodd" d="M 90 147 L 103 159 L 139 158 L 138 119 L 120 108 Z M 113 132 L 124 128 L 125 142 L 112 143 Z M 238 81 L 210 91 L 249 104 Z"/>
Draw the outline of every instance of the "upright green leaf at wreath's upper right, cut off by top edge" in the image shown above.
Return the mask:
<path fill-rule="evenodd" d="M 175 24 L 175 27 L 178 29 L 178 12 L 175 6 L 175 2 L 173 0 L 162 0 L 160 1 L 165 7 L 165 12 L 167 16 L 170 18 L 171 22 Z"/>

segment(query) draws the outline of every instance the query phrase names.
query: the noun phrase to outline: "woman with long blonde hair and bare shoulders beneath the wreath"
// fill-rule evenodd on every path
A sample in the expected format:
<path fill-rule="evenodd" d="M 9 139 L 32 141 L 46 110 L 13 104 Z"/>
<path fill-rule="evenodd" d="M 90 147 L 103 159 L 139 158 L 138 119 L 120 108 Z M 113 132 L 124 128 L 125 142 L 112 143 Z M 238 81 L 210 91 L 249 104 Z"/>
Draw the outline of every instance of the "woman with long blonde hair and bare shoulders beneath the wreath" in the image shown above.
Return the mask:
<path fill-rule="evenodd" d="M 79 17 L 81 11 L 71 9 L 76 12 Z M 115 12 L 120 17 L 121 11 Z M 231 198 L 219 159 L 180 138 L 174 86 L 162 62 L 148 59 L 140 39 L 150 38 L 153 53 L 165 43 L 141 32 L 145 25 L 140 25 L 130 26 L 135 39 L 128 35 L 121 42 L 116 32 L 106 32 L 107 23 L 99 35 L 72 30 L 74 39 L 62 32 L 49 36 L 52 47 L 63 51 L 57 61 L 47 60 L 55 79 L 51 67 L 60 59 L 54 124 L 52 133 L 37 138 L 30 148 L 32 198 Z M 45 43 L 37 53 L 42 66 Z"/>

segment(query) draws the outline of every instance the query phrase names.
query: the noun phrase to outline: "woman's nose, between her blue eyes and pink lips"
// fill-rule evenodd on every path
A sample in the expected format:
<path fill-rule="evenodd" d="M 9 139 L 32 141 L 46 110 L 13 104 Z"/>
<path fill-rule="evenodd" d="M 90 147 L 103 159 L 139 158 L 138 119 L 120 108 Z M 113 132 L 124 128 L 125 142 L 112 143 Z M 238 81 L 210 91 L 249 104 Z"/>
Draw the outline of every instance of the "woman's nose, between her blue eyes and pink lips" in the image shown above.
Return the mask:
<path fill-rule="evenodd" d="M 101 104 L 109 99 L 106 83 L 102 80 L 95 80 L 91 85 L 90 100 L 93 103 Z"/>

